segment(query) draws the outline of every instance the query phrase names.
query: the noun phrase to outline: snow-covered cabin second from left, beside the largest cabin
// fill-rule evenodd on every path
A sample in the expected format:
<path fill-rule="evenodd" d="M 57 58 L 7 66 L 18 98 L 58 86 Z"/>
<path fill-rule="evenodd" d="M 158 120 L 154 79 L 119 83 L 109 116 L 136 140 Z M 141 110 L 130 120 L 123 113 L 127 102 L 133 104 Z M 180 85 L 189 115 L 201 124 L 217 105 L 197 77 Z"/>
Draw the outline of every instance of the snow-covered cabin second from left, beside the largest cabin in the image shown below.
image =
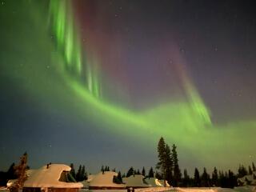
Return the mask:
<path fill-rule="evenodd" d="M 86 180 L 85 188 L 90 190 L 122 190 L 126 185 L 118 181 L 118 174 L 113 171 L 99 172 L 90 175 Z"/>

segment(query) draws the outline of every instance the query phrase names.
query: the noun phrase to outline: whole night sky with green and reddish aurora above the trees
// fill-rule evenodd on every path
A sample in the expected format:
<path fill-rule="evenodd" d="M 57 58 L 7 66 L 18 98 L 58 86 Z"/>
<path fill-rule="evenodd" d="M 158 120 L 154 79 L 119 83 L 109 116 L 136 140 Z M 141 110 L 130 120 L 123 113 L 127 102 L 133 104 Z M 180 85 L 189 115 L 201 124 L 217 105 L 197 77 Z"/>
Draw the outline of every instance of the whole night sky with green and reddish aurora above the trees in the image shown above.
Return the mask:
<path fill-rule="evenodd" d="M 0 2 L 0 169 L 256 162 L 254 1 Z M 147 169 L 148 170 L 148 169 Z"/>

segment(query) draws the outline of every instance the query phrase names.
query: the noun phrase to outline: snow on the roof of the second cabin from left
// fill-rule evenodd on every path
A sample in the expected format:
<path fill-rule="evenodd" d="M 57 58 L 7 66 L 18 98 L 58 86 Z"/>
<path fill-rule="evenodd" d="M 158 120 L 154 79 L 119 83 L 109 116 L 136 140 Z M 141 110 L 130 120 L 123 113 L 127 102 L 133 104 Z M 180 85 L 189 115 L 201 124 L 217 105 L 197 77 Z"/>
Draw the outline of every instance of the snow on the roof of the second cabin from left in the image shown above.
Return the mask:
<path fill-rule="evenodd" d="M 117 173 L 113 171 L 104 171 L 95 174 L 90 179 L 89 186 L 97 186 L 97 187 L 125 187 L 124 184 L 117 184 L 113 182 L 114 176 L 118 176 Z"/>

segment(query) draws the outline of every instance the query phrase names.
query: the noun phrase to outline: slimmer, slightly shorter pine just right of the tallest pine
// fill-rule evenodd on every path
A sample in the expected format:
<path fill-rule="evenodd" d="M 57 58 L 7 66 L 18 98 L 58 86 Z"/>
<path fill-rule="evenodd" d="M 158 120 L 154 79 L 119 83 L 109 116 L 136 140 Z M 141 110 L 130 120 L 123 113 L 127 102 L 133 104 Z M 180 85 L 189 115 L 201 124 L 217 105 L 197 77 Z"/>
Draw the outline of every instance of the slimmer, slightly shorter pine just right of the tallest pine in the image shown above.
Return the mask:
<path fill-rule="evenodd" d="M 176 151 L 177 146 L 173 145 L 172 149 L 172 162 L 174 169 L 174 177 L 173 177 L 173 186 L 178 186 L 178 183 L 181 181 L 182 173 L 178 166 L 178 154 Z"/>

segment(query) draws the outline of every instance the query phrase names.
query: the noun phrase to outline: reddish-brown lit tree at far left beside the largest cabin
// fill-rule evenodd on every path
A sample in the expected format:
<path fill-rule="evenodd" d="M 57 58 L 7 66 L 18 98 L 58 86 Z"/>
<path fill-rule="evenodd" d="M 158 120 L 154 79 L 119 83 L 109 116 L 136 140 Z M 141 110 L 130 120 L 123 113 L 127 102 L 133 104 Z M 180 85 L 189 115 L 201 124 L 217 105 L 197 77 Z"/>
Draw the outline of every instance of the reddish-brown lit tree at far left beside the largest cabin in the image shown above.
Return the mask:
<path fill-rule="evenodd" d="M 22 188 L 24 182 L 27 179 L 26 174 L 26 163 L 27 163 L 27 154 L 23 154 L 20 158 L 20 162 L 18 166 L 14 166 L 15 174 L 17 175 L 18 179 L 12 186 L 10 186 L 10 192 L 18 192 L 19 189 Z"/>

